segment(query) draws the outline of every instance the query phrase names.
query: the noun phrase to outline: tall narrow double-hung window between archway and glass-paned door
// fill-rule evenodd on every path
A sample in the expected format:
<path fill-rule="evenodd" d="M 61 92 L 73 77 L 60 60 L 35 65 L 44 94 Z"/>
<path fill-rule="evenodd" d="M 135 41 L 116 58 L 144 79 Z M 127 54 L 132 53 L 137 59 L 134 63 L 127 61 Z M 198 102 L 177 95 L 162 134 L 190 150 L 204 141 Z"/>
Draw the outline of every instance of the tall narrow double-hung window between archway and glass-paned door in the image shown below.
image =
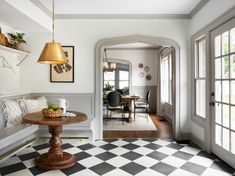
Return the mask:
<path fill-rule="evenodd" d="M 206 117 L 206 40 L 202 38 L 195 43 L 195 115 Z"/>

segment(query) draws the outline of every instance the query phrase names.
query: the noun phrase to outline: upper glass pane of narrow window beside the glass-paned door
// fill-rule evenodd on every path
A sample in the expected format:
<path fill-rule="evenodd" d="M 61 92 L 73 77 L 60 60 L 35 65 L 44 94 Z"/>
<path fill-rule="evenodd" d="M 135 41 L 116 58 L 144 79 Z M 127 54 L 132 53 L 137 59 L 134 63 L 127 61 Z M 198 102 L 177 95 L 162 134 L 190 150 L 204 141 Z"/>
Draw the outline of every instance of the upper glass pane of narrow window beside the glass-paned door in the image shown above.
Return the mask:
<path fill-rule="evenodd" d="M 206 40 L 198 43 L 198 62 L 199 77 L 204 78 L 206 76 Z"/>

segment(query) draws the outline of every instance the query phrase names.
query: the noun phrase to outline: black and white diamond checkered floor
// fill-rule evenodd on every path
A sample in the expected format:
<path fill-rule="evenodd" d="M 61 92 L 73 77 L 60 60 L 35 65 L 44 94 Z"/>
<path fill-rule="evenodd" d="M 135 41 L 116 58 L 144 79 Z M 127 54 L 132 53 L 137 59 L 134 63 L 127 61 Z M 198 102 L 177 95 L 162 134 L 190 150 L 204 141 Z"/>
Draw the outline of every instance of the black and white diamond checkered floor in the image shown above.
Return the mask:
<path fill-rule="evenodd" d="M 65 141 L 63 141 L 65 143 Z M 109 139 L 88 143 L 68 140 L 64 151 L 77 164 L 63 170 L 41 170 L 34 158 L 49 145 L 36 144 L 0 163 L 0 173 L 11 176 L 228 176 L 234 169 L 193 143 L 177 144 L 161 139 Z"/>

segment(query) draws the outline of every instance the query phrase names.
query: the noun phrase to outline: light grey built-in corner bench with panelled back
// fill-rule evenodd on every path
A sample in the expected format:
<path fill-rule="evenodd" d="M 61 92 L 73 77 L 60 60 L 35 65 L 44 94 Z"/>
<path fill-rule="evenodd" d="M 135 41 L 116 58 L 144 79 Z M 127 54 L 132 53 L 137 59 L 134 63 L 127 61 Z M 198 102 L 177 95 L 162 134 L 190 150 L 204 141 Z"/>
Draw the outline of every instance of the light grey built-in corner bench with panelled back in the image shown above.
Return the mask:
<path fill-rule="evenodd" d="M 63 126 L 62 138 L 87 138 L 93 141 L 93 121 L 94 121 L 94 96 L 93 94 L 56 94 L 56 93 L 30 93 L 9 96 L 0 96 L 0 99 L 17 99 L 19 97 L 37 98 L 45 96 L 48 103 L 57 102 L 57 98 L 63 97 L 70 102 L 68 110 L 79 111 L 87 114 L 88 120 L 80 124 Z M 1 106 L 1 104 L 0 104 Z M 1 124 L 5 124 L 0 108 Z M 10 156 L 17 149 L 27 146 L 36 137 L 50 137 L 47 126 L 30 124 L 19 124 L 16 127 L 6 128 L 0 126 L 0 160 L 5 156 Z"/>

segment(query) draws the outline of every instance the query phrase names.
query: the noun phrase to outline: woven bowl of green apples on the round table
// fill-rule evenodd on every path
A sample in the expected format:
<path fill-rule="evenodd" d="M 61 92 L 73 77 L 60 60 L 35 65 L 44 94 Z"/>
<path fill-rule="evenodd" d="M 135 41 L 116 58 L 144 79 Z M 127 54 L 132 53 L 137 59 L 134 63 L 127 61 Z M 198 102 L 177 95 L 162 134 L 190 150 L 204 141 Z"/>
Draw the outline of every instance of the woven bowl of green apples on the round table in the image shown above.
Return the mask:
<path fill-rule="evenodd" d="M 55 118 L 63 115 L 63 108 L 57 104 L 49 104 L 47 108 L 42 109 L 42 114 L 46 118 Z"/>

